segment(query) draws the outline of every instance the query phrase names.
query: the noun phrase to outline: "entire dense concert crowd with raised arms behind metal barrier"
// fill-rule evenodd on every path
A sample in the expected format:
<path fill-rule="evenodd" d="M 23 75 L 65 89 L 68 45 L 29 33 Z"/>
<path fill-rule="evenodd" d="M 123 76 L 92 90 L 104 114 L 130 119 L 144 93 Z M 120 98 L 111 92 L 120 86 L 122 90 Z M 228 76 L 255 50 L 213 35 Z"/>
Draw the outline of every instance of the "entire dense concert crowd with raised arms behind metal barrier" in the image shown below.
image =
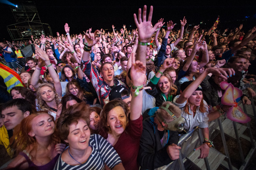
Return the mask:
<path fill-rule="evenodd" d="M 208 122 L 230 108 L 220 83 L 247 91 L 244 104 L 256 96 L 256 27 L 190 29 L 184 17 L 163 29 L 163 18 L 151 23 L 152 6 L 146 13 L 134 14 L 135 30 L 75 34 L 66 23 L 66 35 L 0 42 L 7 168 L 155 169 L 179 158 L 179 137 L 196 126 L 204 140 L 195 150 L 208 156 Z"/>

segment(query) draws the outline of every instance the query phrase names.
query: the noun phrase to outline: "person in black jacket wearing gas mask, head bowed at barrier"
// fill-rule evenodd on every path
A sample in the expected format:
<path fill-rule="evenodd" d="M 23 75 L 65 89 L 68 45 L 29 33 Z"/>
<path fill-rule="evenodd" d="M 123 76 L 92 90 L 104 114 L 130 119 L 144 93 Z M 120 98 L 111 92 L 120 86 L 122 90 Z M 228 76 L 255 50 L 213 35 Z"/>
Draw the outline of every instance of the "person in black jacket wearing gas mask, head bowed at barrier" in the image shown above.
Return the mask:
<path fill-rule="evenodd" d="M 170 101 L 143 114 L 138 163 L 142 169 L 155 169 L 179 158 L 178 132 L 185 124 L 179 107 Z"/>

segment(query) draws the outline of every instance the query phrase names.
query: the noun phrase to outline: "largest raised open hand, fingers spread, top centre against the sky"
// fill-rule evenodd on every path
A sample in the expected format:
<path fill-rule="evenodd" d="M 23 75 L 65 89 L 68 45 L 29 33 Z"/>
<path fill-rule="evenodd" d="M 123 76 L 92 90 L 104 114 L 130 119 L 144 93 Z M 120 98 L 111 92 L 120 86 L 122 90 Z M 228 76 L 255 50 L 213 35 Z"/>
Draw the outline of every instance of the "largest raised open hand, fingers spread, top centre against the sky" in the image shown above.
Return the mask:
<path fill-rule="evenodd" d="M 153 14 L 153 6 L 150 6 L 149 16 L 147 20 L 147 6 L 144 5 L 143 14 L 141 18 L 141 8 L 138 10 L 138 19 L 136 14 L 133 14 L 134 22 L 138 28 L 138 35 L 140 42 L 149 42 L 151 37 L 160 23 L 155 24 L 155 26 L 151 27 L 151 19 Z"/>

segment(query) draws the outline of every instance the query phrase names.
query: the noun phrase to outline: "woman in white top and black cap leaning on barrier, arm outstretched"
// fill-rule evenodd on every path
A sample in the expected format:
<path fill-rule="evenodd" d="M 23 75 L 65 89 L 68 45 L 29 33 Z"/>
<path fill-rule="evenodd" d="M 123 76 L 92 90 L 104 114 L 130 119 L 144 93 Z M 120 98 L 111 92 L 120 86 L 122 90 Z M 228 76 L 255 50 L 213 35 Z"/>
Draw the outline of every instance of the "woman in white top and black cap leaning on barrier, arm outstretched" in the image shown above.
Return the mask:
<path fill-rule="evenodd" d="M 227 73 L 226 73 L 227 72 Z M 208 105 L 203 100 L 202 88 L 200 83 L 208 74 L 214 74 L 227 80 L 227 76 L 234 74 L 233 69 L 222 69 L 222 68 L 207 68 L 204 72 L 194 81 L 185 82 L 182 84 L 181 95 L 176 96 L 173 99 L 173 103 L 180 107 L 182 110 L 182 117 L 185 118 L 185 127 L 187 130 L 193 129 L 195 126 L 202 128 L 204 142 L 202 145 L 197 147 L 195 150 L 201 151 L 199 158 L 205 158 L 209 154 L 209 129 L 208 129 Z"/>

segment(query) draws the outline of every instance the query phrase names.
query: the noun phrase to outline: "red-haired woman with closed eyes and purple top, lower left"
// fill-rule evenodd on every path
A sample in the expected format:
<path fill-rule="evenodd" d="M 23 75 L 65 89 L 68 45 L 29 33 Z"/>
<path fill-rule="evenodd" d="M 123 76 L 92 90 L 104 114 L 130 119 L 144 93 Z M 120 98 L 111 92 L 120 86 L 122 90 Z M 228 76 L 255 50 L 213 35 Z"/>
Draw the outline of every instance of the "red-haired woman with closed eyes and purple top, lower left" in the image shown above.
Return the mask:
<path fill-rule="evenodd" d="M 20 153 L 8 167 L 53 169 L 65 148 L 54 133 L 53 116 L 47 112 L 29 115 L 22 120 L 18 132 L 15 148 Z"/>

